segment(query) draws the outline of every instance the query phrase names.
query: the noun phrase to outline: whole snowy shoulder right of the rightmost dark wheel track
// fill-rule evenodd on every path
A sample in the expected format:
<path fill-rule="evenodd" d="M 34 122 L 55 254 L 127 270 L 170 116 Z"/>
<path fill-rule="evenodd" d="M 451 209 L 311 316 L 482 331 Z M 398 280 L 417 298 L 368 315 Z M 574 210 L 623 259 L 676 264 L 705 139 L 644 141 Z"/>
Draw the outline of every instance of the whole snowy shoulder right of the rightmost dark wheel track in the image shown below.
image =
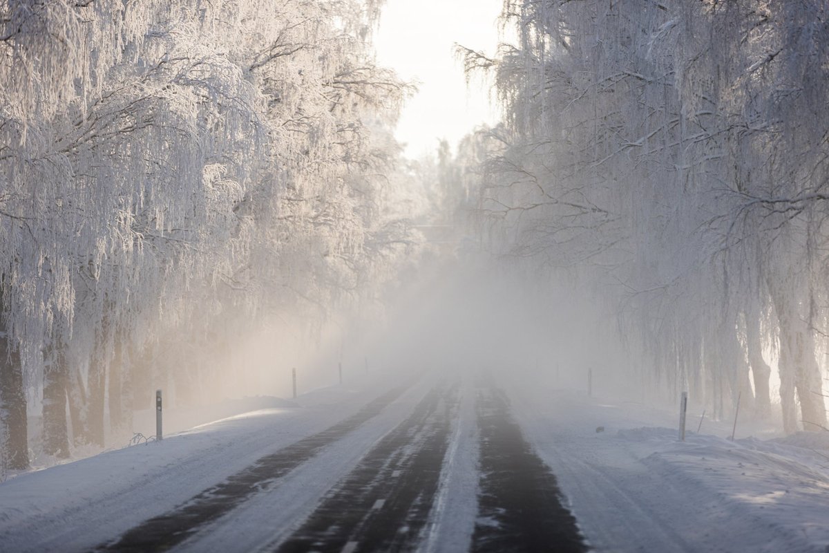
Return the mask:
<path fill-rule="evenodd" d="M 829 462 L 819 452 L 696 434 L 682 443 L 671 413 L 664 426 L 643 427 L 652 412 L 629 405 L 572 390 L 510 391 L 595 551 L 827 551 Z"/>

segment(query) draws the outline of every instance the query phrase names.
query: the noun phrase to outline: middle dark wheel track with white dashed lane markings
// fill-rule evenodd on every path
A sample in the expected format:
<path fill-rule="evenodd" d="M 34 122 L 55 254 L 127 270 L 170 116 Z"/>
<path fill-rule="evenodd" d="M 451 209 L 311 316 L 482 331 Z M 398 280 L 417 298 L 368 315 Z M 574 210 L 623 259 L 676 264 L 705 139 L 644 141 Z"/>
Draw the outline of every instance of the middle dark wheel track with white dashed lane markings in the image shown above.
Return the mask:
<path fill-rule="evenodd" d="M 458 386 L 429 392 L 274 551 L 414 551 L 457 409 Z"/>

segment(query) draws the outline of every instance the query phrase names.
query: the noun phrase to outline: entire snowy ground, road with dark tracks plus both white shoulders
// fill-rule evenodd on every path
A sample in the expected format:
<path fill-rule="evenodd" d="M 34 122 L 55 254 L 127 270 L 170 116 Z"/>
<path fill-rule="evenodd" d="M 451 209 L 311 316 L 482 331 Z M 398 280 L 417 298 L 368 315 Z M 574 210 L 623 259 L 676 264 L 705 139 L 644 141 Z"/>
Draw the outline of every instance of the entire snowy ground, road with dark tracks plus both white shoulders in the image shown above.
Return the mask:
<path fill-rule="evenodd" d="M 482 374 L 375 377 L 299 405 L 12 478 L 0 485 L 0 551 L 829 544 L 819 440 L 679 443 L 655 410 Z"/>

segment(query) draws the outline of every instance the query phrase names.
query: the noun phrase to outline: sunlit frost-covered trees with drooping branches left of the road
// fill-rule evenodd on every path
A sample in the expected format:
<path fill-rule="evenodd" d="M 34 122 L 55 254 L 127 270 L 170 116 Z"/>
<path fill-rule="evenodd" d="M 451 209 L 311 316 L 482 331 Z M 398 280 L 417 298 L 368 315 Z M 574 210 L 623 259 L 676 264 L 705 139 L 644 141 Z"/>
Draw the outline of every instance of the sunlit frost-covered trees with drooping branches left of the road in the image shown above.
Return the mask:
<path fill-rule="evenodd" d="M 103 445 L 155 387 L 195 398 L 236 332 L 322 317 L 393 262 L 369 124 L 407 88 L 373 62 L 376 12 L 0 6 L 4 466 L 27 464 L 27 397 L 46 454 Z"/>

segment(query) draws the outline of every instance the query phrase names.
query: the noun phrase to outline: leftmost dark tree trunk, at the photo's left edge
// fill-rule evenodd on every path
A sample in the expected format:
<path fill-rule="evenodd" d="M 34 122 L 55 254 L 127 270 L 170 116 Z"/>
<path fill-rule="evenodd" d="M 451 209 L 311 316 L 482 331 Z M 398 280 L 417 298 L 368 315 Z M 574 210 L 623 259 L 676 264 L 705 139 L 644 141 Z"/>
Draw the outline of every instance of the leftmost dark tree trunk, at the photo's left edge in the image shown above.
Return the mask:
<path fill-rule="evenodd" d="M 29 468 L 26 391 L 23 367 L 6 332 L 0 328 L 0 431 L 4 431 L 2 455 L 12 470 Z"/>

